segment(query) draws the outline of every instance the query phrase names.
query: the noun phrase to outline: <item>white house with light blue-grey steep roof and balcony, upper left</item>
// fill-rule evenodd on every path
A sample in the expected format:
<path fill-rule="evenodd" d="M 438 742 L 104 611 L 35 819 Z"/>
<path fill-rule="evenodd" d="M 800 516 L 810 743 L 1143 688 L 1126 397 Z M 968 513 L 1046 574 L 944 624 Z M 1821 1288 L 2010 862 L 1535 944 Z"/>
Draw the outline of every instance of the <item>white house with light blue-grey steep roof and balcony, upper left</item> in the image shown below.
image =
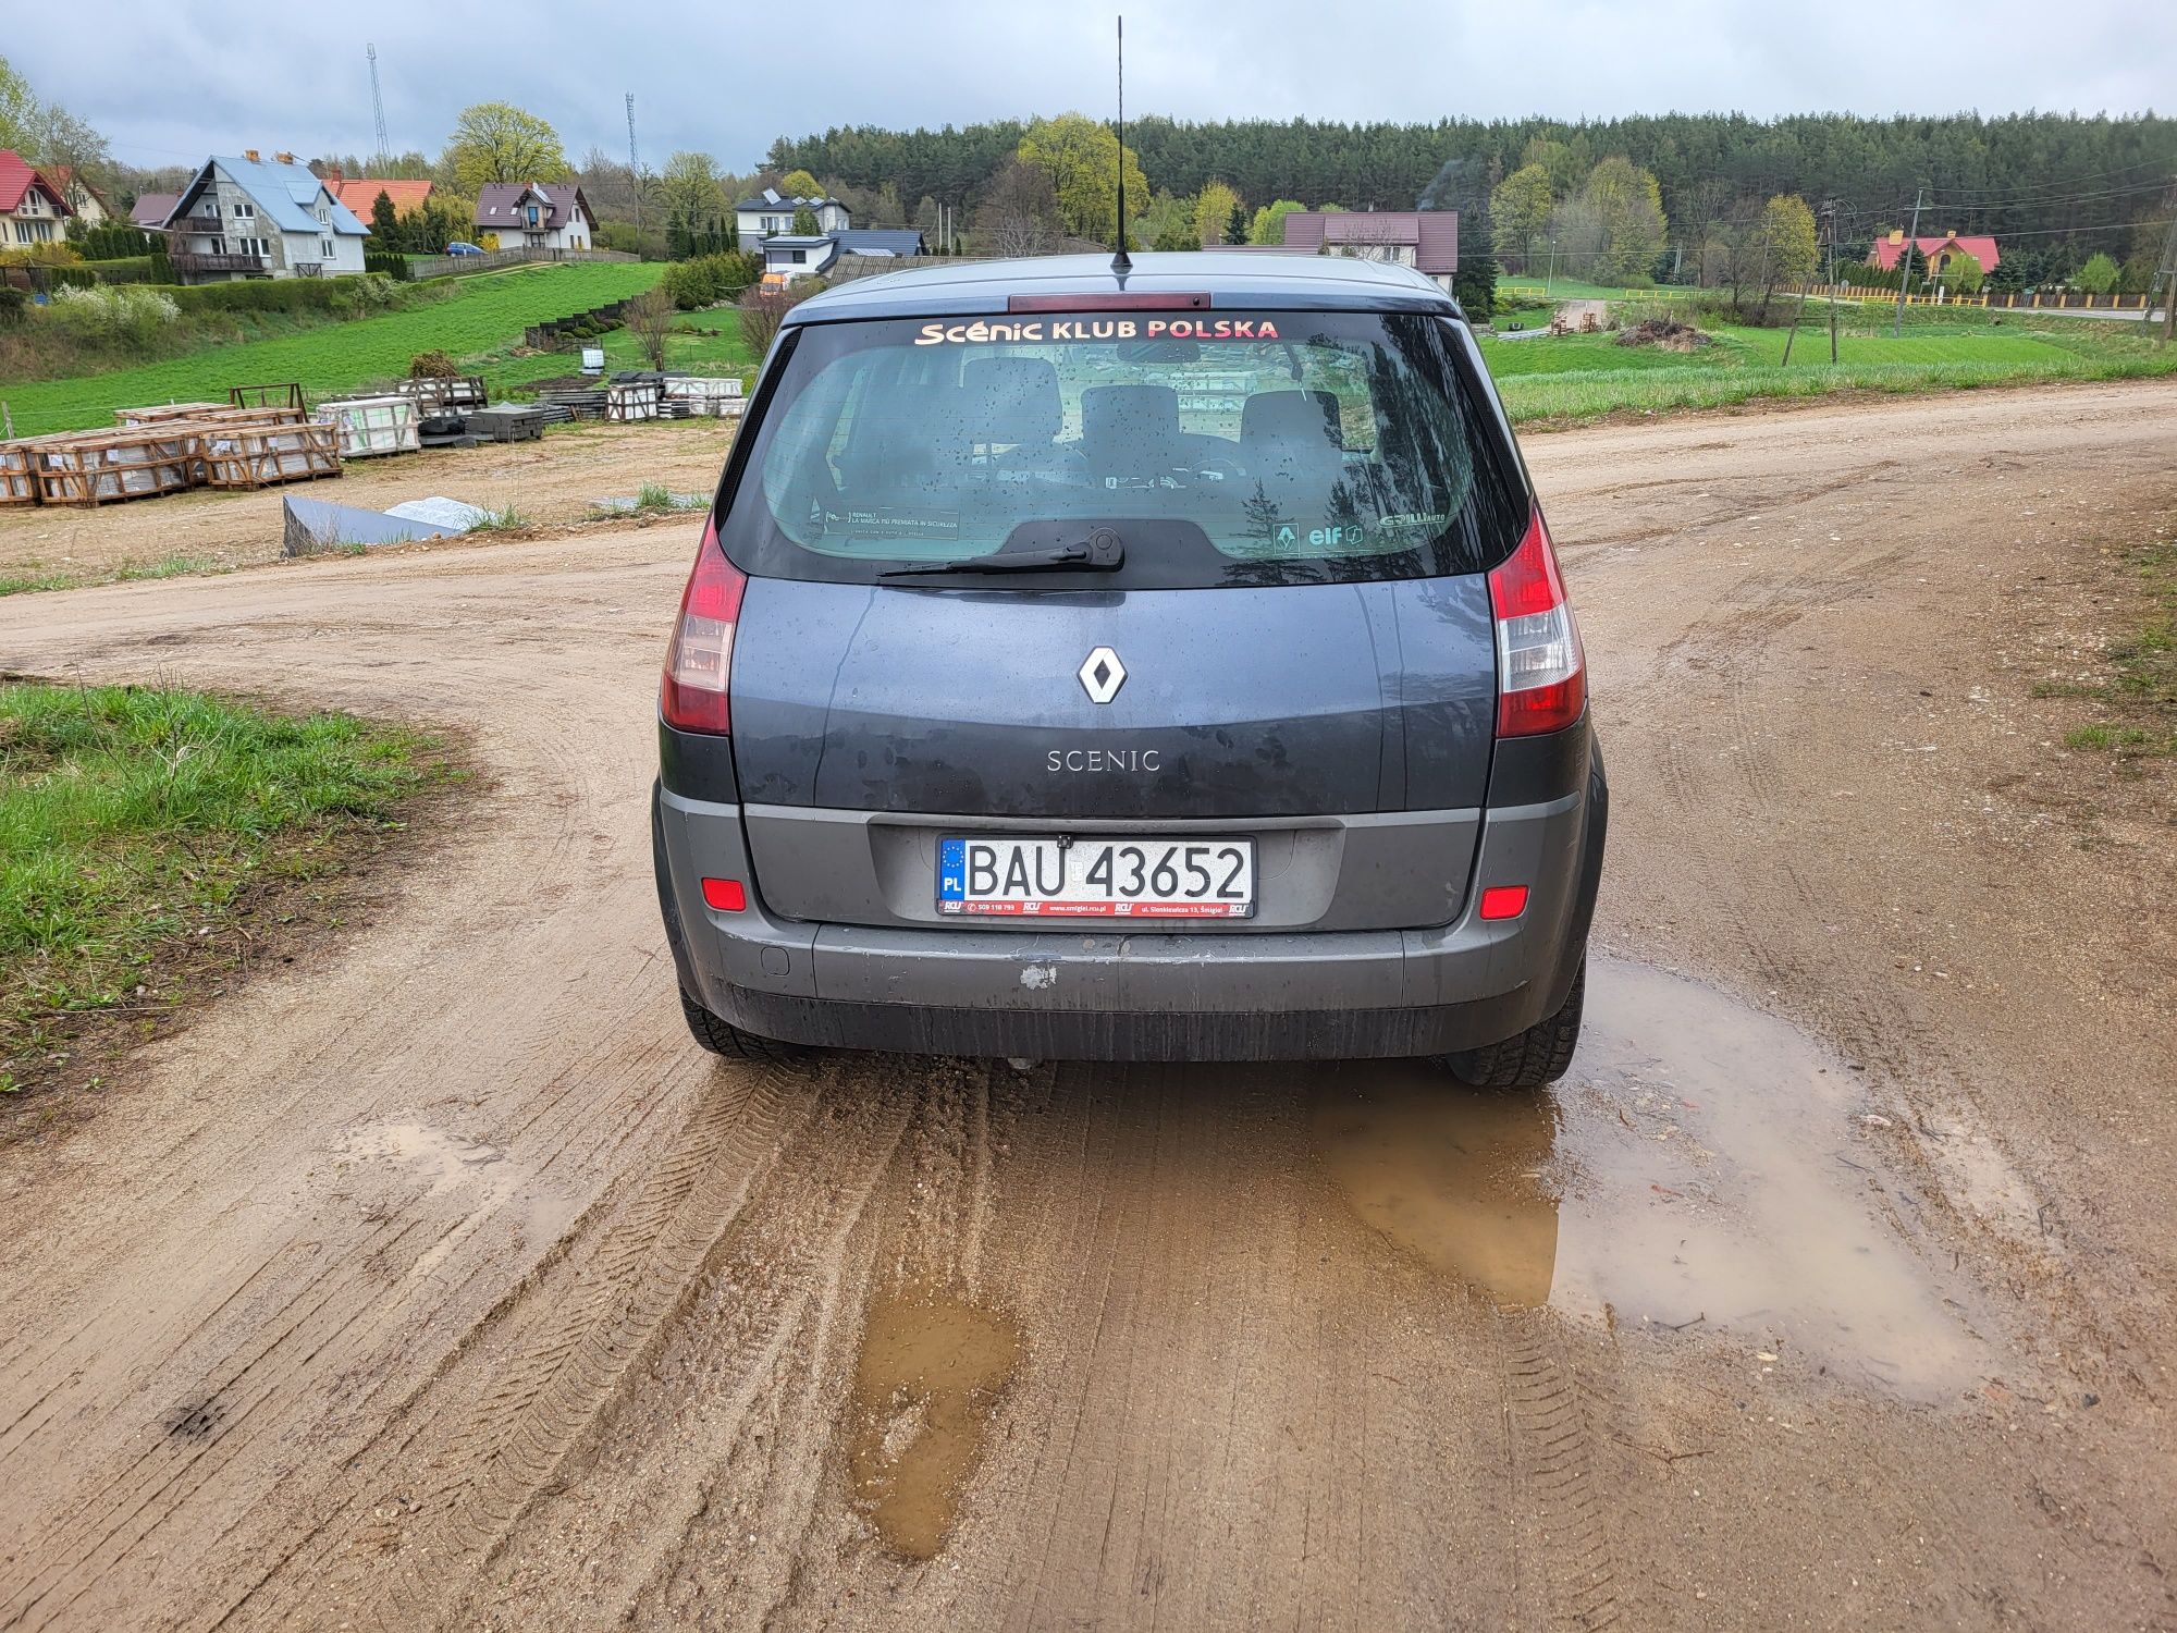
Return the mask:
<path fill-rule="evenodd" d="M 183 283 L 318 279 L 364 270 L 370 229 L 322 181 L 274 152 L 213 155 L 165 218 L 168 259 Z"/>

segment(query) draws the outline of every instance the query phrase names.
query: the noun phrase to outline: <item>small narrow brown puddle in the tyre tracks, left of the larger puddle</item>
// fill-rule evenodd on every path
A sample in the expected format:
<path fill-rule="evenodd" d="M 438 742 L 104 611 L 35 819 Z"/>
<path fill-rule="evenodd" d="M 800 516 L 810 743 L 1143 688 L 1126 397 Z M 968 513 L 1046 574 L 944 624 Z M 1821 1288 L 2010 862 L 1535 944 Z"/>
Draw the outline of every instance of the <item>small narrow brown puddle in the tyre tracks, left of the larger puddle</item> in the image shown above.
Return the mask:
<path fill-rule="evenodd" d="M 1008 1317 L 951 1293 L 897 1289 L 871 1304 L 847 1470 L 897 1552 L 930 1559 L 945 1544 L 1019 1359 Z"/>

